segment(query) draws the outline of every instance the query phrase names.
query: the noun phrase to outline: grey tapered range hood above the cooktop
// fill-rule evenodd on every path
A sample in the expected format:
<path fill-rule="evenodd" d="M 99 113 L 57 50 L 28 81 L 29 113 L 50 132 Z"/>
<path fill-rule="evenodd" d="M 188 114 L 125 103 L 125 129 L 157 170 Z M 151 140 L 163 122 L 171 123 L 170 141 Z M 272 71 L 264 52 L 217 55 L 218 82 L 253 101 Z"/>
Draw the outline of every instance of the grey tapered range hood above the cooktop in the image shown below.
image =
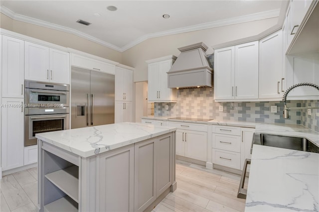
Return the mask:
<path fill-rule="evenodd" d="M 213 69 L 205 51 L 204 43 L 178 48 L 181 52 L 167 72 L 168 88 L 212 87 Z"/>

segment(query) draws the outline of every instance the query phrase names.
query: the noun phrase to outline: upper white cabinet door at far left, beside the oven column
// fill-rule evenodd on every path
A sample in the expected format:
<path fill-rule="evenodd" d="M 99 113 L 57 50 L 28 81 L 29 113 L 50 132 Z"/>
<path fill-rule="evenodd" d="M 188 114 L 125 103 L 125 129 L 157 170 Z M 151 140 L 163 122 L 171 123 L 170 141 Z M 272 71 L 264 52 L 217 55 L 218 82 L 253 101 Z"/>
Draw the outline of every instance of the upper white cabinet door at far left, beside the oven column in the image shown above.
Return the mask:
<path fill-rule="evenodd" d="M 24 41 L 2 36 L 2 97 L 24 98 Z"/>

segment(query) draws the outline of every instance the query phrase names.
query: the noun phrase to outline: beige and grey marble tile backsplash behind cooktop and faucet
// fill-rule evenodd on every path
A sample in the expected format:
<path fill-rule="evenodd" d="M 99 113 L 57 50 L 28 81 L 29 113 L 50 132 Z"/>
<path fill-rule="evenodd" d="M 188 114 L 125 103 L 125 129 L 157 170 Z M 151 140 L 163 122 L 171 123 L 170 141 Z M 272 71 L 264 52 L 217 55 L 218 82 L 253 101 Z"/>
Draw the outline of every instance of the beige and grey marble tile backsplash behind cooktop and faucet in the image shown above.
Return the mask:
<path fill-rule="evenodd" d="M 307 110 L 291 110 L 290 118 L 283 118 L 284 102 L 214 102 L 213 88 L 180 89 L 177 92 L 177 103 L 155 103 L 156 116 L 187 116 L 198 118 L 212 118 L 222 120 L 240 120 L 265 123 L 303 124 L 313 130 L 318 130 L 319 111 L 313 109 L 312 115 Z M 302 105 L 318 105 L 318 101 L 287 101 L 288 107 Z M 168 110 L 165 110 L 168 105 Z M 223 106 L 224 111 L 219 111 Z M 277 112 L 270 112 L 270 106 L 277 106 Z M 314 111 L 316 110 L 316 111 Z M 306 114 L 304 114 L 306 113 Z"/>

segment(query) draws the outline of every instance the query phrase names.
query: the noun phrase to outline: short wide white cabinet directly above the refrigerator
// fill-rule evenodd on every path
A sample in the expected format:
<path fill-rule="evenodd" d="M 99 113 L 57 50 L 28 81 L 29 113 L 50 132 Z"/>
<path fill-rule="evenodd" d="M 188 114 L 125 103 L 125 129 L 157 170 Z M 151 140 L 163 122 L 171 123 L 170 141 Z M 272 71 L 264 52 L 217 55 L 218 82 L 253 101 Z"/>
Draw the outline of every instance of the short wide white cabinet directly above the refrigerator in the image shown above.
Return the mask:
<path fill-rule="evenodd" d="M 71 53 L 71 66 L 115 75 L 115 65 L 83 55 Z"/>

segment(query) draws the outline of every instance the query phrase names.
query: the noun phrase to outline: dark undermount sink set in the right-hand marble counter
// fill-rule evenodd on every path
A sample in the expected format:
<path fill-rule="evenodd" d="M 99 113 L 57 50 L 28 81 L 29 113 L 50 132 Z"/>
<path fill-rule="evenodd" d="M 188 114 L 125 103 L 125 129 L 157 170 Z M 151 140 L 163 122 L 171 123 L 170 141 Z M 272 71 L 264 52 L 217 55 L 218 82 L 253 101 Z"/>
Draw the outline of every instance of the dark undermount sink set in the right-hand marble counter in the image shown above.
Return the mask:
<path fill-rule="evenodd" d="M 306 138 L 272 134 L 255 134 L 254 144 L 319 153 L 319 147 Z"/>

